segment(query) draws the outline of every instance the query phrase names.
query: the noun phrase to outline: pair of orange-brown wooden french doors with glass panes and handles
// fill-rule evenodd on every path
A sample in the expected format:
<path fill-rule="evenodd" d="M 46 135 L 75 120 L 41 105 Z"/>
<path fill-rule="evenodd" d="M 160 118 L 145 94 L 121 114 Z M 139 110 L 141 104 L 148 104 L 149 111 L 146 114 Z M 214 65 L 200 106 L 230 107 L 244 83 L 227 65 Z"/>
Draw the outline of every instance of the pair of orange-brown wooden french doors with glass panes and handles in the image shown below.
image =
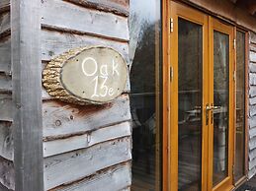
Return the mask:
<path fill-rule="evenodd" d="M 230 190 L 234 28 L 171 2 L 171 190 Z"/>

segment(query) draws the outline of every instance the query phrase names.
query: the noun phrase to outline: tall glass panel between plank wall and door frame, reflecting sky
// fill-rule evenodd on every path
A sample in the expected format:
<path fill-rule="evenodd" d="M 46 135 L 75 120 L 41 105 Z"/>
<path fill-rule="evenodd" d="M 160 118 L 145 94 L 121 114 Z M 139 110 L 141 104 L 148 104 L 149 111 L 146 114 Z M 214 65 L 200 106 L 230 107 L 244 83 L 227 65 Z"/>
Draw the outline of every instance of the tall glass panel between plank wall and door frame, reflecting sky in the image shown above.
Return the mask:
<path fill-rule="evenodd" d="M 130 0 L 132 191 L 161 190 L 160 0 Z"/>

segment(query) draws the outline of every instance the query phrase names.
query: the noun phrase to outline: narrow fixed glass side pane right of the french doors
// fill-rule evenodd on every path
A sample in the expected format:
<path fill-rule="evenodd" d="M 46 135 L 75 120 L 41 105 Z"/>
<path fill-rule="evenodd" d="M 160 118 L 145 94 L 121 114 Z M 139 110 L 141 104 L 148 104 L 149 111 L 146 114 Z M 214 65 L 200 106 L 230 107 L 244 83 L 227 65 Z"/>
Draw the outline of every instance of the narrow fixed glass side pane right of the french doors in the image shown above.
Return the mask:
<path fill-rule="evenodd" d="M 244 175 L 244 92 L 245 92 L 245 33 L 236 32 L 236 144 L 234 178 L 238 181 Z"/>

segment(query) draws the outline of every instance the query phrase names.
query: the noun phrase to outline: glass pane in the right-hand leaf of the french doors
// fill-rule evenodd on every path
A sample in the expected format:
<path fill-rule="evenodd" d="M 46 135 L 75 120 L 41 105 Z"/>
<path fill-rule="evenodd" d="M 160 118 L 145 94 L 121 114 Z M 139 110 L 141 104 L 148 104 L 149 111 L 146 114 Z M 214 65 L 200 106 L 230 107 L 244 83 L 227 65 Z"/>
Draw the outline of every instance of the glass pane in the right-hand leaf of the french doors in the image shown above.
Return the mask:
<path fill-rule="evenodd" d="M 229 36 L 213 32 L 213 185 L 227 176 Z"/>

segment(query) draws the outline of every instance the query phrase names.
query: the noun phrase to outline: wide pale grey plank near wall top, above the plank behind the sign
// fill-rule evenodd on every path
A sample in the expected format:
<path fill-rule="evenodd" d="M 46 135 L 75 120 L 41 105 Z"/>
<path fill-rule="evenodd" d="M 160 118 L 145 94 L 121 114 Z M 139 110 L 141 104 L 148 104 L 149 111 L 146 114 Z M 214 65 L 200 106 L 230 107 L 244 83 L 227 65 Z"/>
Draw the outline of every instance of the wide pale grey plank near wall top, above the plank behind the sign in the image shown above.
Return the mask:
<path fill-rule="evenodd" d="M 128 41 L 128 18 L 86 9 L 65 1 L 43 1 L 43 27 L 85 32 Z M 74 22 L 74 18 L 77 18 Z"/>

